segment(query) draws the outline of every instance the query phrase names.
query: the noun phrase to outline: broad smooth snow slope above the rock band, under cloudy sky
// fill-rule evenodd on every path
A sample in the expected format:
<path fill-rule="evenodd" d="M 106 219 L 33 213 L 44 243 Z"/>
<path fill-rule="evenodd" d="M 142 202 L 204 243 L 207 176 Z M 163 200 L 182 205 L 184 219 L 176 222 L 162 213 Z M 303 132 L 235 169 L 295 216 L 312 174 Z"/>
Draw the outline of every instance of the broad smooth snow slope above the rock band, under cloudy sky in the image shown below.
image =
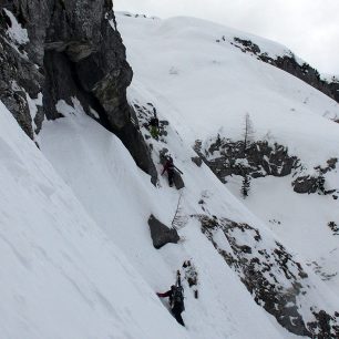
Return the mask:
<path fill-rule="evenodd" d="M 339 127 L 322 117 L 339 116 L 338 103 L 230 42 L 251 40 L 273 58 L 289 54 L 287 48 L 194 18 L 122 14 L 117 23 L 134 85 L 142 83 L 156 97 L 188 143 L 216 133 L 238 140 L 248 112 L 255 138 L 269 135 L 310 165 L 338 154 Z"/>

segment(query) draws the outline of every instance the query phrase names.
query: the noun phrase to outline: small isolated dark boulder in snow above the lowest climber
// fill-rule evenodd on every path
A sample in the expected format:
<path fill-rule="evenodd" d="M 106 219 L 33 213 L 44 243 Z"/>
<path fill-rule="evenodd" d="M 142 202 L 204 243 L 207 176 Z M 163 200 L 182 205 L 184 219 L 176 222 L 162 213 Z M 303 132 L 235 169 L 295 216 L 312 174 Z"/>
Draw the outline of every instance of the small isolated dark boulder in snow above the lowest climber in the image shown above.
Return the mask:
<path fill-rule="evenodd" d="M 148 226 L 151 230 L 151 237 L 153 246 L 158 249 L 168 243 L 177 244 L 179 236 L 176 229 L 168 228 L 161 223 L 153 214 L 148 218 Z"/>

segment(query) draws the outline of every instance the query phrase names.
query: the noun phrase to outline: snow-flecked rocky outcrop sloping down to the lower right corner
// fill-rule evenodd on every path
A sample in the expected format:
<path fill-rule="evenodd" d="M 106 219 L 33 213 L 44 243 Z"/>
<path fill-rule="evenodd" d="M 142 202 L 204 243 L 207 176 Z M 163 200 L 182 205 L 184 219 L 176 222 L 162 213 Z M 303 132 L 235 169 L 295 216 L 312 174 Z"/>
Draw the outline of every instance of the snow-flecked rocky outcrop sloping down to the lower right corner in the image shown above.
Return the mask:
<path fill-rule="evenodd" d="M 302 318 L 304 296 L 311 291 L 308 275 L 291 254 L 278 242 L 269 242 L 265 235 L 248 224 L 238 224 L 227 218 L 196 215 L 202 232 L 233 268 L 253 295 L 255 301 L 271 314 L 277 321 L 298 336 L 309 338 L 338 338 L 339 318 L 326 311 L 316 312 L 312 321 Z M 219 244 L 225 235 L 229 250 Z M 305 298 L 308 307 L 308 298 Z M 315 337 L 316 336 L 316 337 Z"/>

